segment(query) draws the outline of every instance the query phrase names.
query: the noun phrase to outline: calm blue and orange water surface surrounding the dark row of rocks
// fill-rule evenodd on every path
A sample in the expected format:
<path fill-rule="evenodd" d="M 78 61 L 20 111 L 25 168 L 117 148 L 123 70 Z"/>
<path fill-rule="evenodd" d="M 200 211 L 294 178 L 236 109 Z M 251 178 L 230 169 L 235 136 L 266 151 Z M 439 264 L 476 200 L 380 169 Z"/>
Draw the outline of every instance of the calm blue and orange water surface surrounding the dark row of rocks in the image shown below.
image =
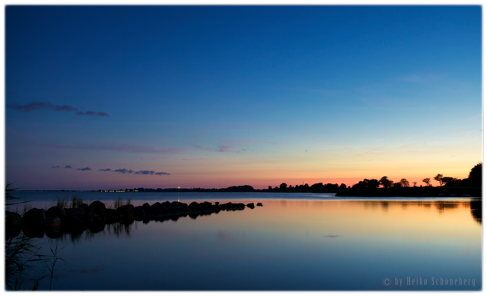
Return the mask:
<path fill-rule="evenodd" d="M 19 192 L 36 207 L 74 192 Z M 39 239 L 53 290 L 480 290 L 479 200 L 312 193 L 82 192 L 84 200 L 263 203 Z M 420 285 L 420 281 L 422 285 Z M 460 282 L 462 285 L 460 285 Z M 41 282 L 49 289 L 49 280 Z"/>

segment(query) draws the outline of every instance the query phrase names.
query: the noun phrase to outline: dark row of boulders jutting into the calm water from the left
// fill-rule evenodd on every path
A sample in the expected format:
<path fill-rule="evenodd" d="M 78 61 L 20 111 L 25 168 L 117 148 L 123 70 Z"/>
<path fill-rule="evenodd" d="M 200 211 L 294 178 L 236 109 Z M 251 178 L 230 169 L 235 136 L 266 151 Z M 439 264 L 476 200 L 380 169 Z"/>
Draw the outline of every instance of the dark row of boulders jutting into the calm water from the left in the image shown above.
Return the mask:
<path fill-rule="evenodd" d="M 262 206 L 258 203 L 257 206 Z M 180 202 L 164 202 L 142 206 L 123 205 L 115 209 L 109 209 L 100 201 L 94 201 L 89 206 L 82 204 L 79 208 L 51 207 L 47 211 L 33 208 L 23 216 L 18 213 L 5 211 L 6 238 L 13 238 L 20 234 L 20 230 L 28 237 L 59 237 L 63 233 L 80 233 L 85 229 L 91 232 L 99 232 L 105 228 L 105 224 L 124 223 L 129 224 L 134 220 L 151 221 L 177 219 L 180 216 L 189 215 L 196 218 L 199 215 L 208 215 L 220 211 L 243 210 L 245 207 L 255 208 L 254 203 L 226 203 L 216 202 L 196 203 L 187 205 Z"/>

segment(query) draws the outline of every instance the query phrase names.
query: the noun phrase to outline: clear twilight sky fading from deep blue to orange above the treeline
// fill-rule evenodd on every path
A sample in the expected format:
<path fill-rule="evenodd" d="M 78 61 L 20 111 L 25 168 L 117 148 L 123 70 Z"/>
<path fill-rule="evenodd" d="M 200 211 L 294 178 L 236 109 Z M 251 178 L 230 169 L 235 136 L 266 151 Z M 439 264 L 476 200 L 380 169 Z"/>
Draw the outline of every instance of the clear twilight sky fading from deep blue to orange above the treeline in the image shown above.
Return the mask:
<path fill-rule="evenodd" d="M 467 178 L 481 38 L 481 6 L 6 6 L 6 181 Z"/>

